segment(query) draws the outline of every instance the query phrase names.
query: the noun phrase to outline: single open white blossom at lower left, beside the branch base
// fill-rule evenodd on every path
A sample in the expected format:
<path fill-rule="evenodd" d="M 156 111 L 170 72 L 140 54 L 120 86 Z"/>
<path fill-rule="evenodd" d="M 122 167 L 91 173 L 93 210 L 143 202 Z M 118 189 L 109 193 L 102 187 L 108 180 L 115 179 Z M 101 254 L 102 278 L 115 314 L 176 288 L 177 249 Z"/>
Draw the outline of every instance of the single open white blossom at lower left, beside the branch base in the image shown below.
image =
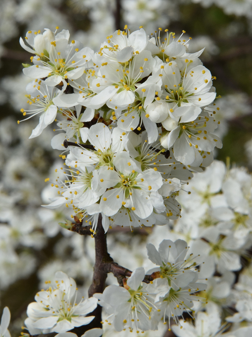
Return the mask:
<path fill-rule="evenodd" d="M 75 281 L 63 272 L 56 272 L 55 278 L 55 287 L 38 292 L 36 302 L 28 305 L 25 324 L 30 333 L 66 332 L 94 318 L 86 315 L 96 308 L 97 299 L 82 299 L 77 304 Z"/>

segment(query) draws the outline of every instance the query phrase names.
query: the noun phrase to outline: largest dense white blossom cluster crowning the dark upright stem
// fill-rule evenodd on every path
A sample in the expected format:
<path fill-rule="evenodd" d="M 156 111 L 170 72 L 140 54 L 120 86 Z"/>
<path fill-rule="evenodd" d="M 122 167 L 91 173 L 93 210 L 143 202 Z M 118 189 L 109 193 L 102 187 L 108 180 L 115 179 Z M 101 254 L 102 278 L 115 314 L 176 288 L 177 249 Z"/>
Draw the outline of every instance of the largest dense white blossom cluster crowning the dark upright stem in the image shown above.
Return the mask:
<path fill-rule="evenodd" d="M 222 146 L 212 133 L 218 122 L 207 106 L 216 93 L 202 51 L 188 53 L 184 32 L 176 40 L 166 30 L 161 42 L 161 28 L 149 37 L 125 26 L 94 53 L 57 28 L 29 31 L 27 43 L 20 38 L 35 54 L 23 70 L 35 80 L 27 86 L 32 109 L 21 111 L 26 119 L 40 114 L 30 137 L 56 120 L 64 132 L 52 147 L 70 145 L 62 155 L 66 179 L 54 184 L 59 196 L 48 207 L 72 206 L 72 217 L 94 231 L 99 213 L 106 231 L 114 223 L 152 226 L 178 217 L 181 183 Z"/>

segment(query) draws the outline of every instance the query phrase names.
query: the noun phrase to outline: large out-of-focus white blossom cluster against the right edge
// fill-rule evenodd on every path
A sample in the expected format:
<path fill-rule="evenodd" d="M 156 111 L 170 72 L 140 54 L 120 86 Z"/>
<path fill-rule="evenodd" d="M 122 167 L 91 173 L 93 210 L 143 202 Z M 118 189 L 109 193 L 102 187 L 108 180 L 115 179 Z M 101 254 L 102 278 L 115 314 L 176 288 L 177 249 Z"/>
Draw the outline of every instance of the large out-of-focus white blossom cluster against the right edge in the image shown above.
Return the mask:
<path fill-rule="evenodd" d="M 251 188 L 245 168 L 229 168 L 215 160 L 179 195 L 183 208 L 173 231 L 186 237 L 192 252 L 201 251 L 201 277 L 242 268 L 240 256 L 251 242 Z"/>

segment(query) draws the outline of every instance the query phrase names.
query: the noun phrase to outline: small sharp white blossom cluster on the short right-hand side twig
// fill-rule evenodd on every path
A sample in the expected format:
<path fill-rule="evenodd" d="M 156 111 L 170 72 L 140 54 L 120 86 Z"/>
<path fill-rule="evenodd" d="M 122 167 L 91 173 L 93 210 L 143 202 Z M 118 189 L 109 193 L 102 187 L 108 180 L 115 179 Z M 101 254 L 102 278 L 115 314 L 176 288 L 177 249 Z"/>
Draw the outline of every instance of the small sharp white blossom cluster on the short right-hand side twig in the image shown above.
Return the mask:
<path fill-rule="evenodd" d="M 108 286 L 99 304 L 104 306 L 113 319 L 117 331 L 129 328 L 157 330 L 160 319 L 170 327 L 170 320 L 178 324 L 178 316 L 190 312 L 193 300 L 199 301 L 194 294 L 204 290 L 205 284 L 198 283 L 198 269 L 192 256 L 187 255 L 187 244 L 183 240 L 163 240 L 159 249 L 147 245 L 149 259 L 158 267 L 151 270 L 154 281 L 142 283 L 144 268 L 135 269 L 124 287 Z"/>

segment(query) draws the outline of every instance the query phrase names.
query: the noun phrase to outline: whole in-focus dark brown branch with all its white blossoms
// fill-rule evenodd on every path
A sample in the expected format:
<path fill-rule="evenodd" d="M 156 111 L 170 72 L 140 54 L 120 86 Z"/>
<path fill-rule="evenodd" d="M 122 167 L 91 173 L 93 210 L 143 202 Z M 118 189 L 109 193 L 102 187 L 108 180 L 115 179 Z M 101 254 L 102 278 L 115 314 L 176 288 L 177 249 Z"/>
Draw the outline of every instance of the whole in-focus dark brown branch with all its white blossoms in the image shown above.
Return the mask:
<path fill-rule="evenodd" d="M 118 0 L 117 28 L 120 5 Z M 200 255 L 187 256 L 189 247 L 181 239 L 164 239 L 158 250 L 147 244 L 148 257 L 157 266 L 152 275 L 145 275 L 143 267 L 131 271 L 118 265 L 107 250 L 105 232 L 113 226 L 133 232 L 135 227 L 151 228 L 178 219 L 181 206 L 175 197 L 181 186 L 191 179 L 191 171 L 200 172 L 211 163 L 215 147 L 222 147 L 212 133 L 219 123 L 212 105 L 215 78 L 199 61 L 191 65 L 200 52 L 187 53 L 180 40 L 184 31 L 171 42 L 175 33 L 166 29 L 160 43 L 160 28 L 153 43 L 155 38 L 150 40 L 142 28 L 133 33 L 127 25 L 124 29 L 109 35 L 96 54 L 78 41 L 69 43 L 66 30 L 29 31 L 26 42 L 20 38 L 22 47 L 36 55 L 31 57 L 34 64 L 25 64 L 23 70 L 35 79 L 27 87 L 29 103 L 34 105 L 21 112 L 29 115 L 26 119 L 40 114 L 30 138 L 56 121 L 65 133 L 53 137 L 52 147 L 70 147 L 67 155 L 61 155 L 66 159 L 66 167 L 60 167 L 65 181 L 58 176 L 51 184 L 58 191 L 47 207 L 73 208 L 74 222 L 60 225 L 95 240 L 89 298 L 72 305 L 76 283 L 56 272 L 55 286 L 38 292 L 36 302 L 29 304 L 25 324 L 31 333 L 71 331 L 82 336 L 98 328 L 100 336 L 102 308 L 97 298 L 104 309 L 109 308 L 108 320 L 118 332 L 157 330 L 161 319 L 171 330 L 171 318 L 180 325 L 178 317 L 192 310 L 193 300 L 198 301 L 195 294 L 206 289 L 197 282 L 199 262 L 193 261 Z M 206 245 L 211 243 L 206 240 Z M 221 237 L 214 245 L 223 243 Z M 106 287 L 110 272 L 119 286 Z M 93 332 L 86 335 L 94 337 Z"/>

